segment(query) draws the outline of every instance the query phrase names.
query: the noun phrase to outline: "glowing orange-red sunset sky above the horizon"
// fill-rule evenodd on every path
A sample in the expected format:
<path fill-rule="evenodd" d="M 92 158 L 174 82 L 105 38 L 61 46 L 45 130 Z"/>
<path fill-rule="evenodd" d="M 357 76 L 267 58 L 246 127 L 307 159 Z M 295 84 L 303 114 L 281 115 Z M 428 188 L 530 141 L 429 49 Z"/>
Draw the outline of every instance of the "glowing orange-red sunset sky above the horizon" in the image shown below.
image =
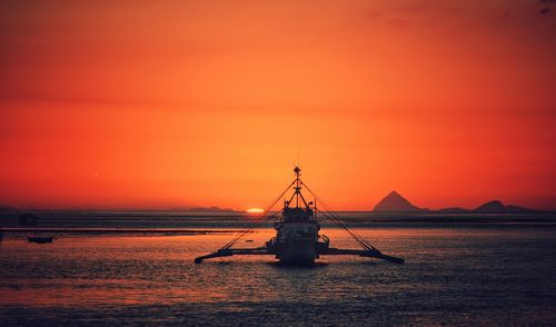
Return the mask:
<path fill-rule="evenodd" d="M 545 7 L 552 11 L 540 14 Z M 0 204 L 556 209 L 550 1 L 1 1 Z"/>

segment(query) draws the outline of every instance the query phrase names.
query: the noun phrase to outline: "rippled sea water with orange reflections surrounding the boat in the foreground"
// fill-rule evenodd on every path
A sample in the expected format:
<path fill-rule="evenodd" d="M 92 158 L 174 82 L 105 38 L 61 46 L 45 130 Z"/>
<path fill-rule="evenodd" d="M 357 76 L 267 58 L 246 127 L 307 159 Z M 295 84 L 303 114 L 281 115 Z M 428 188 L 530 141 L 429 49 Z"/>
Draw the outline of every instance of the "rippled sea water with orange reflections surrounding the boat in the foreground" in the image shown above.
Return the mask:
<path fill-rule="evenodd" d="M 339 229 L 331 246 L 357 248 Z M 232 235 L 63 235 L 0 245 L 0 324 L 556 326 L 556 227 L 363 228 L 394 265 L 350 256 L 282 267 L 193 264 Z M 258 229 L 237 247 L 274 236 Z"/>

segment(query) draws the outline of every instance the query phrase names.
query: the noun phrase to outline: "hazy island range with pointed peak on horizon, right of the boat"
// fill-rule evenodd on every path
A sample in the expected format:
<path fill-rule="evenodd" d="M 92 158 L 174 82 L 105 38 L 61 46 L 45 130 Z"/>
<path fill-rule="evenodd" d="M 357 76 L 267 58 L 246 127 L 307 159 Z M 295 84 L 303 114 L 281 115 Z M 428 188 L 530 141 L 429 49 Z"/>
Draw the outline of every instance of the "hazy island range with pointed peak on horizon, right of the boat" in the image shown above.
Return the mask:
<path fill-rule="evenodd" d="M 409 200 L 404 198 L 400 194 L 393 190 L 384 199 L 381 199 L 375 208 L 374 212 L 445 212 L 445 214 L 534 214 L 537 210 L 504 205 L 499 200 L 492 200 L 478 206 L 475 209 L 465 209 L 461 207 L 449 207 L 438 210 L 430 210 L 428 208 L 419 208 L 414 206 Z"/>

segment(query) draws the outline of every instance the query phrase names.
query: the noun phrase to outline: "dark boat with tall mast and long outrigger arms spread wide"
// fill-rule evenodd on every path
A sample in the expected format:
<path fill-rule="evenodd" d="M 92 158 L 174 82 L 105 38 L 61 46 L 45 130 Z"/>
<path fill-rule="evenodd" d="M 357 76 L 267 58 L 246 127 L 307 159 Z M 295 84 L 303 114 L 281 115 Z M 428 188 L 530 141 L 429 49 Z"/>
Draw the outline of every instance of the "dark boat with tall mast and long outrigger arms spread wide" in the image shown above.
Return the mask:
<path fill-rule="evenodd" d="M 314 264 L 320 256 L 342 256 L 353 255 L 360 257 L 378 258 L 395 264 L 404 264 L 404 259 L 384 255 L 370 242 L 365 240 L 357 231 L 348 228 L 340 219 L 338 214 L 332 211 L 326 202 L 305 185 L 301 179 L 301 169 L 296 166 L 294 169 L 296 179 L 278 196 L 275 201 L 261 215 L 261 219 L 242 229 L 232 240 L 214 254 L 201 256 L 195 259 L 196 264 L 201 264 L 206 259 L 230 257 L 235 255 L 271 255 L 280 262 L 286 265 L 307 265 Z M 305 187 L 315 198 L 314 201 L 307 201 L 301 194 Z M 272 207 L 288 192 L 294 189 L 289 199 L 284 199 L 284 209 L 277 214 L 275 219 L 276 237 L 271 238 L 262 247 L 258 248 L 232 248 L 232 246 L 252 230 L 259 222 L 268 218 L 268 212 Z M 325 211 L 317 210 L 317 200 L 325 208 Z M 339 249 L 330 247 L 330 240 L 325 235 L 319 235 L 320 224 L 317 219 L 317 212 L 328 218 L 351 236 L 361 247 L 361 249 Z M 272 215 L 270 217 L 276 217 Z"/>

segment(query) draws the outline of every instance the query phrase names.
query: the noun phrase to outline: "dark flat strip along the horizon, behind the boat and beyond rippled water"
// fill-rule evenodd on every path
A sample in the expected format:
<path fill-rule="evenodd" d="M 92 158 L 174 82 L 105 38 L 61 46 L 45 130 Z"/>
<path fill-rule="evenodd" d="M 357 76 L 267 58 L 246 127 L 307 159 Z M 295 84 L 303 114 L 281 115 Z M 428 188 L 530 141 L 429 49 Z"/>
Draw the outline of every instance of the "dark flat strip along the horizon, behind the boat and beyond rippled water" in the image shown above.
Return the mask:
<path fill-rule="evenodd" d="M 33 211 L 37 225 L 21 226 L 18 214 L 0 214 L 4 232 L 168 234 L 235 232 L 259 219 L 245 212 Z M 193 212 L 197 214 L 197 212 Z M 354 228 L 556 228 L 556 214 L 338 212 Z M 322 228 L 336 224 L 320 216 Z M 274 219 L 257 224 L 272 228 Z"/>

